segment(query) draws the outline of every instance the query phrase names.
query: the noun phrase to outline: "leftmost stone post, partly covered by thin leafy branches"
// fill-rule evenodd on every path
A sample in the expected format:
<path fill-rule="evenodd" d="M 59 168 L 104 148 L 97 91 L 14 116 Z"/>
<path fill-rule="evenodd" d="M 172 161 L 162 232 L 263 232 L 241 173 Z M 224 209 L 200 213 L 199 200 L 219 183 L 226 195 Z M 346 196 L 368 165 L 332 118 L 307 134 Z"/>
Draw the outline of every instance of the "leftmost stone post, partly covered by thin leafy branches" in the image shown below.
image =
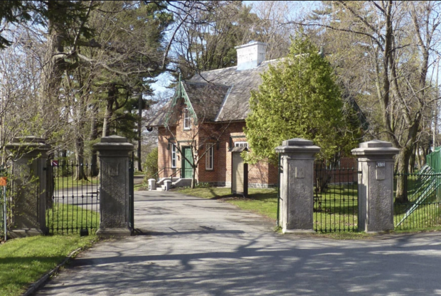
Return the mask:
<path fill-rule="evenodd" d="M 13 159 L 13 216 L 9 237 L 46 234 L 46 157 L 44 139 L 17 137 L 6 144 Z"/>

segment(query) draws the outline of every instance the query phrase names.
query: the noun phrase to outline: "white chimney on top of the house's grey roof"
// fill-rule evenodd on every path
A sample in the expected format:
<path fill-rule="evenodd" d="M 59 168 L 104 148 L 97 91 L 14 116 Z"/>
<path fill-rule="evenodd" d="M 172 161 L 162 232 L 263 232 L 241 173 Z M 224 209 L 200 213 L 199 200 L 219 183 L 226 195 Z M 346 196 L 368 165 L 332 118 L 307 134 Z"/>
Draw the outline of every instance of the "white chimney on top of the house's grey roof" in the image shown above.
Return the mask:
<path fill-rule="evenodd" d="M 238 71 L 256 68 L 265 60 L 267 53 L 267 45 L 257 41 L 236 46 L 235 49 L 238 52 Z"/>

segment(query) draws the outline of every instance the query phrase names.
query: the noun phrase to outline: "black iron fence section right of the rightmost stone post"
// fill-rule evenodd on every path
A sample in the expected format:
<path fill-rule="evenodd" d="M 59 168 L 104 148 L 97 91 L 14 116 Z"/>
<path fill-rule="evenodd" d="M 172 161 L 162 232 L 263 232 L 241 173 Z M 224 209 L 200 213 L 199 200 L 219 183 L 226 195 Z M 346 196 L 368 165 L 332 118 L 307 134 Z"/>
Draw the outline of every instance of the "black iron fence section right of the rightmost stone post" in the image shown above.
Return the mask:
<path fill-rule="evenodd" d="M 395 174 L 395 229 L 441 226 L 441 174 Z"/>

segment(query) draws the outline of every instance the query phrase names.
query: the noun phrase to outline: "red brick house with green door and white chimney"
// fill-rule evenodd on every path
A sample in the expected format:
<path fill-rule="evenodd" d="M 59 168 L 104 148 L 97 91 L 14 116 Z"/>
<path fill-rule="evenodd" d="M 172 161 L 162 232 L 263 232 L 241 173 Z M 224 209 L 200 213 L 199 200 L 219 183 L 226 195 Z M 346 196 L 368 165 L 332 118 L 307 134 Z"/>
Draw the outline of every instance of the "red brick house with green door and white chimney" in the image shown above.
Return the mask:
<path fill-rule="evenodd" d="M 276 62 L 265 61 L 265 47 L 260 42 L 238 46 L 237 66 L 179 81 L 172 99 L 147 123 L 158 128 L 159 177 L 191 178 L 189 162 L 199 159 L 198 182 L 231 186 L 231 151 L 248 148 L 243 128 L 250 91 L 257 90 L 260 74 Z M 248 186 L 276 184 L 276 166 L 266 162 L 248 166 Z"/>

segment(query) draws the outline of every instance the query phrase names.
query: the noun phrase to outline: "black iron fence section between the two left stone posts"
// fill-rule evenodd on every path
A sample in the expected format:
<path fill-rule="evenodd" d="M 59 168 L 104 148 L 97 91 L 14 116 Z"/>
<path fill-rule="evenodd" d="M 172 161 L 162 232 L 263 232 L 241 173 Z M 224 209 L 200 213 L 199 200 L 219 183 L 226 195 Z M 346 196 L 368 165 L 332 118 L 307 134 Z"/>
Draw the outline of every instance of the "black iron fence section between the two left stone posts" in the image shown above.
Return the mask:
<path fill-rule="evenodd" d="M 92 164 L 49 160 L 46 226 L 49 233 L 96 231 L 100 223 L 100 179 Z"/>

